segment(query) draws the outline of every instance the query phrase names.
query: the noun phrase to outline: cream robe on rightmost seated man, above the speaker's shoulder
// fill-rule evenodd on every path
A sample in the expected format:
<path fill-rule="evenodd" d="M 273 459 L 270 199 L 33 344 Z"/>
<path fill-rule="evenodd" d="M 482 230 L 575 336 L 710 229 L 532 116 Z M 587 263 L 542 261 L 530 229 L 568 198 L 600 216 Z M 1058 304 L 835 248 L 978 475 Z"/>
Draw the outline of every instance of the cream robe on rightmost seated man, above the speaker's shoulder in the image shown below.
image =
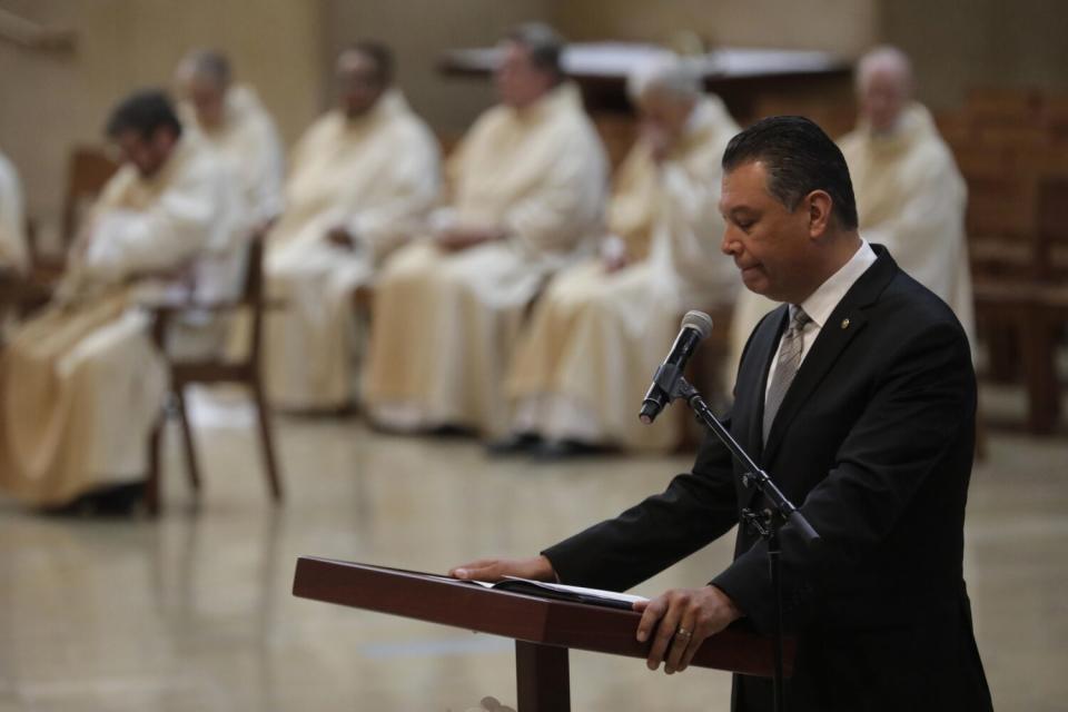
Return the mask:
<path fill-rule="evenodd" d="M 843 137 L 860 234 L 890 255 L 957 314 L 975 344 L 971 267 L 965 236 L 968 188 L 926 108 L 906 108 L 898 127 L 864 125 Z"/>

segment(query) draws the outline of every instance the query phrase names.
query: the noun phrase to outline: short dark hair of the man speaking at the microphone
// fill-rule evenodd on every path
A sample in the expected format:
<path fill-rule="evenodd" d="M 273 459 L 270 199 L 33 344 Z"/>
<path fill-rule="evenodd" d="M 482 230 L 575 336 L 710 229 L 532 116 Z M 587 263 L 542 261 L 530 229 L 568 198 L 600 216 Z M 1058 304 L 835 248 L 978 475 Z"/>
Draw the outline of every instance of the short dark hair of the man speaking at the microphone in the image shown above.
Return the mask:
<path fill-rule="evenodd" d="M 794 210 L 813 190 L 823 190 L 831 196 L 839 225 L 857 229 L 857 199 L 846 157 L 814 121 L 801 116 L 756 121 L 726 145 L 723 171 L 756 160 L 768 170 L 768 191 L 787 209 Z"/>

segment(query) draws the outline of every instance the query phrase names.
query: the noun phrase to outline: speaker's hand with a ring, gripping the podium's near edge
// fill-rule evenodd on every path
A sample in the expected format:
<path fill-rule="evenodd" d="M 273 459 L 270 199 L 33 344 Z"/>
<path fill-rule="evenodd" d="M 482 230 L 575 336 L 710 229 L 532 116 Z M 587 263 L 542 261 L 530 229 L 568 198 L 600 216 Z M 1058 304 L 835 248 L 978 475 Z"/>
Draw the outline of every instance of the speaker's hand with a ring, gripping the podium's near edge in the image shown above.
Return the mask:
<path fill-rule="evenodd" d="M 690 665 L 706 637 L 715 635 L 742 617 L 734 602 L 715 586 L 673 589 L 652 601 L 640 601 L 634 610 L 642 614 L 637 624 L 640 643 L 652 639 L 645 664 L 669 675 Z"/>

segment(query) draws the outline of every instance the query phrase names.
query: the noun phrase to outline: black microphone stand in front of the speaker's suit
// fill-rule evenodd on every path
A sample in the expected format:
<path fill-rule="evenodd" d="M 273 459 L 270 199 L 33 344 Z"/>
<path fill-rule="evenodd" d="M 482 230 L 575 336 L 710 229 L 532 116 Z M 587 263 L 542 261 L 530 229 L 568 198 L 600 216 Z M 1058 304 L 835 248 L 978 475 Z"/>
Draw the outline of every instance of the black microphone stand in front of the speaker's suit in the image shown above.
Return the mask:
<path fill-rule="evenodd" d="M 659 376 L 660 374 L 657 374 Z M 683 398 L 690 405 L 690 408 L 696 415 L 698 421 L 708 429 L 712 431 L 720 442 L 731 452 L 734 458 L 742 464 L 744 474 L 742 475 L 742 485 L 746 488 L 755 487 L 769 506 L 760 512 L 750 508 L 742 510 L 742 521 L 752 527 L 762 538 L 768 542 L 768 566 L 771 573 L 771 587 L 775 600 L 774 617 L 774 675 L 773 675 L 773 709 L 775 712 L 782 712 L 785 709 L 785 699 L 783 696 L 783 672 L 782 672 L 782 550 L 779 543 L 779 530 L 790 522 L 800 532 L 801 537 L 809 544 L 820 540 L 820 535 L 808 523 L 804 515 L 798 511 L 793 504 L 787 500 L 785 495 L 771 481 L 768 473 L 756 466 L 756 463 L 742 449 L 742 446 L 731 436 L 723 424 L 712 413 L 712 408 L 704 402 L 701 394 L 690 383 L 679 375 L 678 379 L 670 384 L 670 388 L 664 388 L 671 400 Z M 664 384 L 669 385 L 669 384 Z M 663 387 L 663 386 L 662 386 Z"/>

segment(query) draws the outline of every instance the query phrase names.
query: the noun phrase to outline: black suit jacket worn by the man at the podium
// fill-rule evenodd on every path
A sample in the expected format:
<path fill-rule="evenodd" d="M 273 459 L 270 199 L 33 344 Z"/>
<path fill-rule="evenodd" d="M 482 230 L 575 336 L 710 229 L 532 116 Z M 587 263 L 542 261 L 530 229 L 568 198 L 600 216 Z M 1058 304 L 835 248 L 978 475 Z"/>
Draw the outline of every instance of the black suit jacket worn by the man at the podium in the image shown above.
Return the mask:
<path fill-rule="evenodd" d="M 750 337 L 726 425 L 822 536 L 782 530 L 791 712 L 989 710 L 962 576 L 975 447 L 968 340 L 938 297 L 881 246 L 807 354 L 762 442 L 769 366 L 787 307 Z M 546 550 L 564 583 L 625 590 L 725 534 L 759 504 L 714 437 L 693 471 L 614 520 Z M 712 582 L 770 633 L 767 546 L 740 527 Z M 770 710 L 770 683 L 735 678 L 735 710 Z"/>

